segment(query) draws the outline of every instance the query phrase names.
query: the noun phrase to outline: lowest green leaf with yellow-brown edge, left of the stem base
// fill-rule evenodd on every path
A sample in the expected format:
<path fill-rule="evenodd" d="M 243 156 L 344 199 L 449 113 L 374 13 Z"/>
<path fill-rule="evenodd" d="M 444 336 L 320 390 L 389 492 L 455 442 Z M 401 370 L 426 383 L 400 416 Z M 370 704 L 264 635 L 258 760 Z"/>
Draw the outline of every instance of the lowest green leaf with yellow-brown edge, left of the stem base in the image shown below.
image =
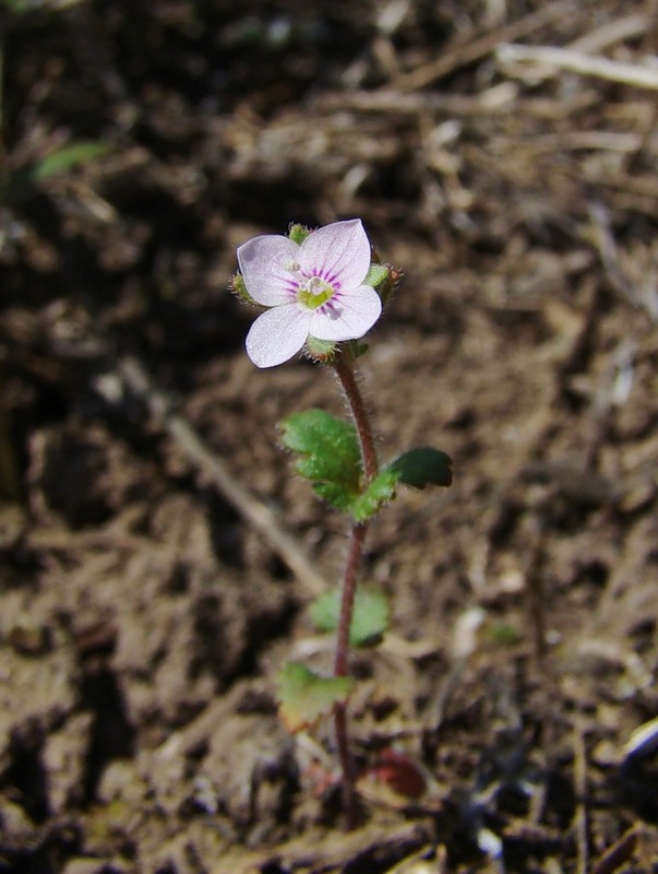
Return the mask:
<path fill-rule="evenodd" d="M 279 714 L 288 731 L 312 728 L 334 705 L 347 700 L 355 682 L 348 676 L 323 677 L 304 664 L 288 662 L 277 677 Z"/>

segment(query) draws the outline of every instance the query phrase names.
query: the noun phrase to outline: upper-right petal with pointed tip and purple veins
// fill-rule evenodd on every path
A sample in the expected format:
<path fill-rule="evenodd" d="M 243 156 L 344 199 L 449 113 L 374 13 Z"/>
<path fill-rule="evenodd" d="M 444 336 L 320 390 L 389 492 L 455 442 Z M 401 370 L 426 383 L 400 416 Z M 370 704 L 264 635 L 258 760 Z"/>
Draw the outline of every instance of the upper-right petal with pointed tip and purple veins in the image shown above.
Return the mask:
<path fill-rule="evenodd" d="M 298 260 L 304 273 L 316 273 L 340 291 L 357 288 L 370 270 L 370 243 L 361 220 L 313 231 L 301 244 Z"/>

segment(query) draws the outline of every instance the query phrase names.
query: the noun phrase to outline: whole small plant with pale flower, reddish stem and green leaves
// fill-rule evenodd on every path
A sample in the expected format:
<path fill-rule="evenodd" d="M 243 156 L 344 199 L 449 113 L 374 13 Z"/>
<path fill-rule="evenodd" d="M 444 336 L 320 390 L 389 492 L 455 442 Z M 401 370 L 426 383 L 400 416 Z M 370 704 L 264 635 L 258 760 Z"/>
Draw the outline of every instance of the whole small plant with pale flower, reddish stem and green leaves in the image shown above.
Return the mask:
<path fill-rule="evenodd" d="M 358 341 L 380 318 L 399 274 L 380 262 L 359 218 L 316 231 L 291 225 L 288 236 L 254 237 L 238 248 L 238 264 L 234 291 L 266 308 L 247 336 L 252 362 L 274 367 L 304 350 L 318 364 L 335 370 L 351 412 L 351 423 L 322 410 L 294 413 L 280 423 L 282 441 L 297 456 L 297 472 L 311 481 L 323 500 L 348 516 L 350 535 L 339 588 L 321 595 L 311 607 L 315 625 L 335 633 L 333 672 L 322 676 L 303 664 L 287 664 L 278 678 L 278 700 L 290 731 L 333 713 L 346 820 L 354 826 L 357 775 L 347 701 L 355 681 L 349 650 L 376 643 L 388 626 L 384 593 L 358 584 L 368 523 L 395 497 L 399 484 L 450 485 L 451 460 L 426 447 L 380 466 L 356 359 L 368 349 Z"/>

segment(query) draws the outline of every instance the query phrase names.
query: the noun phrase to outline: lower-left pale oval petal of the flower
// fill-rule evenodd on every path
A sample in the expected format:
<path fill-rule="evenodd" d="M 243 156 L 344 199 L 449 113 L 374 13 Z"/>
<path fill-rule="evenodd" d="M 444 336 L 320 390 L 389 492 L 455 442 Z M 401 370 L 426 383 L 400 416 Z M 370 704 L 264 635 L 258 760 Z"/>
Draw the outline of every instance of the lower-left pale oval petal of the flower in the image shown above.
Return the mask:
<path fill-rule="evenodd" d="M 301 350 L 313 312 L 286 304 L 261 314 L 247 334 L 247 354 L 256 367 L 276 367 Z"/>

